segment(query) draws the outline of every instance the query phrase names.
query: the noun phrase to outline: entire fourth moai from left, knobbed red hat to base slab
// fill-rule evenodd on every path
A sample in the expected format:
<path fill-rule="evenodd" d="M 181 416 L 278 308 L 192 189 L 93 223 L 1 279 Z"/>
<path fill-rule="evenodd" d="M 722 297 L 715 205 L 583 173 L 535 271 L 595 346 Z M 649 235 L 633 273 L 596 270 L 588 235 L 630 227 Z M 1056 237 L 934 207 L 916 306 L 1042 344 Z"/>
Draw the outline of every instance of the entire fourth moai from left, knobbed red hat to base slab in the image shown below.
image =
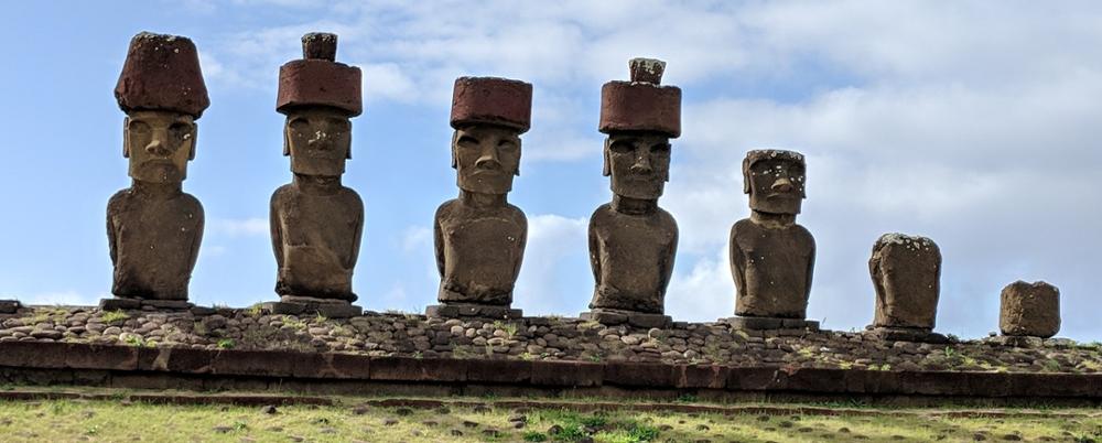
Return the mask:
<path fill-rule="evenodd" d="M 670 139 L 681 134 L 681 89 L 660 86 L 666 63 L 635 58 L 630 82 L 601 89 L 599 130 L 608 134 L 604 175 L 613 201 L 590 218 L 592 311 L 604 324 L 666 327 L 666 288 L 673 273 L 678 224 L 658 207 L 670 179 Z"/>

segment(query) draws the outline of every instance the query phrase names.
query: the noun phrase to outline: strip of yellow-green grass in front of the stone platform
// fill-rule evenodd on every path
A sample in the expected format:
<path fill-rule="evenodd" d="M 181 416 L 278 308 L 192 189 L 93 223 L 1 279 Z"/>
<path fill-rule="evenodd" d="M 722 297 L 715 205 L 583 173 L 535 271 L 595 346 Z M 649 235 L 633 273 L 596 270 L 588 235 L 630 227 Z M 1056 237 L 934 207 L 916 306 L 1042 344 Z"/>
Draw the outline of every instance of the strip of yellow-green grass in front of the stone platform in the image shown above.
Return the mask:
<path fill-rule="evenodd" d="M 111 400 L 0 401 L 0 435 L 4 442 L 39 441 L 210 441 L 210 442 L 959 442 L 983 435 L 1004 441 L 1100 441 L 1102 409 L 1052 409 L 1052 417 L 950 419 L 929 409 L 893 409 L 906 415 L 819 417 L 781 413 L 680 413 L 669 411 L 576 412 L 563 409 L 512 411 L 450 407 L 406 409 L 356 406 L 280 407 L 276 414 L 236 406 L 164 406 Z M 469 400 L 469 399 L 467 399 Z M 483 399 L 493 401 L 494 399 Z M 630 401 L 622 401 L 630 403 Z M 585 403 L 584 401 L 582 402 Z M 773 404 L 778 406 L 778 404 Z M 840 404 L 841 406 L 841 404 Z M 849 406 L 849 404 L 846 404 Z M 796 406 L 792 406 L 793 410 Z M 965 409 L 966 410 L 966 409 Z M 990 409 L 985 409 L 990 411 Z M 1009 410 L 1014 411 L 1014 410 Z M 1076 415 L 1061 415 L 1068 412 Z M 509 419 L 523 414 L 525 425 Z M 393 421 L 392 424 L 387 424 Z M 497 432 L 484 433 L 487 430 Z M 453 434 L 458 432 L 461 435 Z"/>

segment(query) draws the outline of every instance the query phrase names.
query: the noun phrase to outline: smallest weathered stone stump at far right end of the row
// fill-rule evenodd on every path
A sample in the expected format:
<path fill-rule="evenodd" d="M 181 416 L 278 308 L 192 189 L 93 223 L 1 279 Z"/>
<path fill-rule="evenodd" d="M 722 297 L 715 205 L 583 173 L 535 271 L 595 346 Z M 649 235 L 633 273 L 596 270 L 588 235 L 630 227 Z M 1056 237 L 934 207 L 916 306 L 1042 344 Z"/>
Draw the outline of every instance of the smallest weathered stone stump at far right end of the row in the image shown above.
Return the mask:
<path fill-rule="evenodd" d="M 1044 281 L 1016 281 L 1000 295 L 1003 335 L 1048 338 L 1060 332 L 1060 290 Z"/>

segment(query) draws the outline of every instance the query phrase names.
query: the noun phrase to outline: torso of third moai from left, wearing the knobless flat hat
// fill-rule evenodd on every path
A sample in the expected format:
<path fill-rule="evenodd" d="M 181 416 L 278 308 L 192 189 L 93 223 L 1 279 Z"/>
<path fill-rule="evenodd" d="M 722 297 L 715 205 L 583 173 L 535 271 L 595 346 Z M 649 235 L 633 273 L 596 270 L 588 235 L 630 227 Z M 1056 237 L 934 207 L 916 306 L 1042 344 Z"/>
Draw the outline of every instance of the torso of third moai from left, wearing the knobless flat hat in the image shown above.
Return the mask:
<path fill-rule="evenodd" d="M 436 210 L 434 225 L 440 301 L 511 303 L 528 238 L 525 214 L 508 204 L 478 208 L 453 199 Z"/>

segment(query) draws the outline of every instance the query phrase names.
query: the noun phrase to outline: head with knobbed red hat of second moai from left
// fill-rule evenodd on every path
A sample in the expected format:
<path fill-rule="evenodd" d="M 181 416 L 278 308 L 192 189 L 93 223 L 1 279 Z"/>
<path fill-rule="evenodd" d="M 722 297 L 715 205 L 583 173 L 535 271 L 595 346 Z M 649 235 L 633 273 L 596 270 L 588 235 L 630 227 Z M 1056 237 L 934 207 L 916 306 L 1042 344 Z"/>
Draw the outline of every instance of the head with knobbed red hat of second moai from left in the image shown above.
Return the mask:
<path fill-rule="evenodd" d="M 283 155 L 291 171 L 303 175 L 338 176 L 352 159 L 350 118 L 363 112 L 360 71 L 334 62 L 337 36 L 302 36 L 302 60 L 279 69 L 276 110 L 287 116 Z"/>

